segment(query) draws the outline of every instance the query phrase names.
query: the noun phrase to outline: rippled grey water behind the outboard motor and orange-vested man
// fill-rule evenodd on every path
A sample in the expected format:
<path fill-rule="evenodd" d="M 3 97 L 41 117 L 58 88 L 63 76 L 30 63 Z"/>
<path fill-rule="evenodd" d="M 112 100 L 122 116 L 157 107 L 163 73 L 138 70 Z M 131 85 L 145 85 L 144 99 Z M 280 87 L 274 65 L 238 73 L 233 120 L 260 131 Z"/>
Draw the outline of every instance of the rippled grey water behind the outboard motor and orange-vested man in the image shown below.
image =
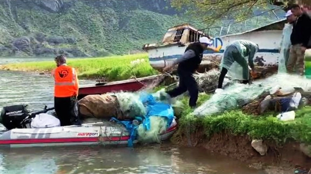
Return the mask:
<path fill-rule="evenodd" d="M 0 71 L 0 107 L 13 104 L 29 104 L 42 109 L 44 104 L 53 105 L 53 78 L 28 72 Z M 94 83 L 79 80 L 80 84 Z"/>

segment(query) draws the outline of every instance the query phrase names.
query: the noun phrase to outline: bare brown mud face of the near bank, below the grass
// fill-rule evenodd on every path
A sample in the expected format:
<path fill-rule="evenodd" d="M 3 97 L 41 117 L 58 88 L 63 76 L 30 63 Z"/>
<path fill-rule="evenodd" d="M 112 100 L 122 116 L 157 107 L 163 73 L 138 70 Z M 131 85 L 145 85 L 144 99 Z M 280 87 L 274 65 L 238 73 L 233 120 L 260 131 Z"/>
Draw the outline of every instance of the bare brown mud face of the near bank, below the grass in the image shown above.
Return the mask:
<path fill-rule="evenodd" d="M 272 141 L 264 141 L 267 144 L 267 154 L 261 156 L 251 146 L 252 140 L 247 135 L 233 135 L 225 132 L 206 137 L 202 131 L 197 130 L 188 138 L 181 135 L 171 139 L 173 144 L 202 148 L 204 150 L 220 153 L 230 158 L 248 163 L 250 167 L 265 170 L 270 174 L 292 174 L 295 171 L 311 174 L 311 158 L 302 153 L 299 143 L 287 142 L 278 145 Z"/>

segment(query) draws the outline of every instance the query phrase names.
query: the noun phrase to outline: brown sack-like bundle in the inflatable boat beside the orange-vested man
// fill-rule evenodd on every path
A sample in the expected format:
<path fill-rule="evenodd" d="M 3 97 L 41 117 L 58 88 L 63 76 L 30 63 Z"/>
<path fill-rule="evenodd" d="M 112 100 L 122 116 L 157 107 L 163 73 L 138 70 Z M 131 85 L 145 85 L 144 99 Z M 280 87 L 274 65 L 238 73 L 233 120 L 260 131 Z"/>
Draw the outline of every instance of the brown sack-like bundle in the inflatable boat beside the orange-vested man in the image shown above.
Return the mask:
<path fill-rule="evenodd" d="M 82 118 L 106 118 L 120 116 L 118 99 L 113 95 L 87 95 L 79 100 L 79 110 Z"/>

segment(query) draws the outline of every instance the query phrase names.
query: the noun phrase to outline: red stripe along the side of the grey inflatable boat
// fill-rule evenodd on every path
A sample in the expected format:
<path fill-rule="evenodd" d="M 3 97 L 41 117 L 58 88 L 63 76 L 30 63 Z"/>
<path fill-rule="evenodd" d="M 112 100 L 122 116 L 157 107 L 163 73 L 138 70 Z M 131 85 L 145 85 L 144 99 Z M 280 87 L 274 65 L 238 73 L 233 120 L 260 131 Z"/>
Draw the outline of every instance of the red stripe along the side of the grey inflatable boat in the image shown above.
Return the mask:
<path fill-rule="evenodd" d="M 170 127 L 165 133 L 177 129 L 177 124 Z M 162 135 L 163 135 L 162 134 Z M 0 144 L 39 144 L 39 143 L 77 143 L 77 142 L 99 142 L 99 141 L 127 141 L 129 136 L 123 137 L 91 137 L 91 138 L 49 138 L 49 139 L 17 139 L 0 140 Z"/>

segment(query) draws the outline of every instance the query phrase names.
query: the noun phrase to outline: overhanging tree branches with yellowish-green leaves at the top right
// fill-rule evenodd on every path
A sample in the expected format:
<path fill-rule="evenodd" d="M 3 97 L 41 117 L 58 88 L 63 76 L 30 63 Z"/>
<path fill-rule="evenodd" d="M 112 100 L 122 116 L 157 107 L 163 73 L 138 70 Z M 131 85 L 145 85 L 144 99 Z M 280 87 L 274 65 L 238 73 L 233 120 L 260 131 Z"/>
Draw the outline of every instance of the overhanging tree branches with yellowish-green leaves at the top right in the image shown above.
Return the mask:
<path fill-rule="evenodd" d="M 247 19 L 253 16 L 254 8 L 268 10 L 271 5 L 278 5 L 287 10 L 297 2 L 311 5 L 311 0 L 171 0 L 171 6 L 203 23 L 213 24 L 220 19 Z"/>

